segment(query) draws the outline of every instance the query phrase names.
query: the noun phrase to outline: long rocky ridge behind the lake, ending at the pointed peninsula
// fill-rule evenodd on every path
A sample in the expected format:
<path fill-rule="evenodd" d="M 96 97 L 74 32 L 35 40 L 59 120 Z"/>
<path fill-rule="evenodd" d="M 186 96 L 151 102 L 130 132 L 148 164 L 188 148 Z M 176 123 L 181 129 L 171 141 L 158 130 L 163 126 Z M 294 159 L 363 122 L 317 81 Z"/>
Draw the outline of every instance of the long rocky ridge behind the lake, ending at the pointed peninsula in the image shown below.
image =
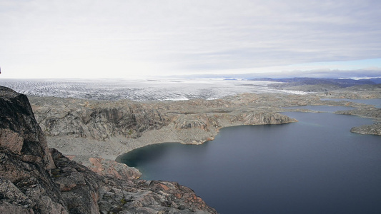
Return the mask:
<path fill-rule="evenodd" d="M 193 143 L 205 141 L 226 126 L 295 121 L 269 109 L 249 108 L 247 105 L 253 105 L 253 100 L 255 96 L 151 103 L 31 98 L 31 103 L 47 136 L 101 141 L 115 136 L 140 138 L 149 131 L 169 128 L 177 136 L 170 140 Z M 194 133 L 194 138 L 187 136 L 189 132 Z"/>

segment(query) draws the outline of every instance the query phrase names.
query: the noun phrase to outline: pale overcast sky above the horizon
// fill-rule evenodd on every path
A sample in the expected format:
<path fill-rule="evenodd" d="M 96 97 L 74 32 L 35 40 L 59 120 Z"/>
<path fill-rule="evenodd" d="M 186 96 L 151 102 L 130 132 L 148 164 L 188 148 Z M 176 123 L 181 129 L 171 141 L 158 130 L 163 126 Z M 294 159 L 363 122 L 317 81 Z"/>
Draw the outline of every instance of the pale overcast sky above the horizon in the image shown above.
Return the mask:
<path fill-rule="evenodd" d="M 0 0 L 0 78 L 381 76 L 379 0 Z"/>

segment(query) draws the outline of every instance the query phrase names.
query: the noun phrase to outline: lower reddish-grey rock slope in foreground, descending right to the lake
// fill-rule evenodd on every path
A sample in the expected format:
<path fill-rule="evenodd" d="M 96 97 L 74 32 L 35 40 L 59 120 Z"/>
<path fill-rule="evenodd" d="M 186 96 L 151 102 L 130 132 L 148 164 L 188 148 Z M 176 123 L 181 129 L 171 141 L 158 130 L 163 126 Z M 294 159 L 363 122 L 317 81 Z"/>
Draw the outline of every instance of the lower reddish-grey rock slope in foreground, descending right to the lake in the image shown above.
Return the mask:
<path fill-rule="evenodd" d="M 217 213 L 177 183 L 105 177 L 55 149 L 50 152 L 57 165 L 52 177 L 63 188 L 70 213 Z"/>

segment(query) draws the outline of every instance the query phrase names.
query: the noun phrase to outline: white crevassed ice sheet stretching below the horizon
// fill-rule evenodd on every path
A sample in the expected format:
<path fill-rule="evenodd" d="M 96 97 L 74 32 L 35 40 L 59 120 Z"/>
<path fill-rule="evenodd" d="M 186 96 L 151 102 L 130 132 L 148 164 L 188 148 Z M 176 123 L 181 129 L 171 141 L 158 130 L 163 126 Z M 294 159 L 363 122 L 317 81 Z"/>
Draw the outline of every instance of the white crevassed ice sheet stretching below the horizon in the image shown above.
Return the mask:
<path fill-rule="evenodd" d="M 268 87 L 269 81 L 227 79 L 0 79 L 28 96 L 54 96 L 95 100 L 165 101 L 193 98 L 216 99 L 239 93 L 303 93 Z"/>

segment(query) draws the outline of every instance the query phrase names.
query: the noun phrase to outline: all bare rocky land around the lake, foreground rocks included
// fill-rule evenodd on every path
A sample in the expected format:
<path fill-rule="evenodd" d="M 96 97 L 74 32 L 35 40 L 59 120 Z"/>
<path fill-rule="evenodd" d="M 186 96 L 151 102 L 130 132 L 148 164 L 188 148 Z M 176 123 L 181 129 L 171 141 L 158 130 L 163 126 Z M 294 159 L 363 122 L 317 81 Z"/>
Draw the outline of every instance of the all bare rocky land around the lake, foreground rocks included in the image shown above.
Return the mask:
<path fill-rule="evenodd" d="M 0 92 L 0 212 L 216 213 L 189 188 L 139 180 L 137 169 L 115 158 L 153 143 L 204 143 L 228 126 L 297 122 L 282 112 L 310 111 L 298 106 L 354 107 L 336 113 L 372 118 L 375 123 L 348 131 L 381 134 L 380 108 L 322 100 L 381 98 L 380 85 L 187 101 L 27 98 L 4 87 Z"/>

